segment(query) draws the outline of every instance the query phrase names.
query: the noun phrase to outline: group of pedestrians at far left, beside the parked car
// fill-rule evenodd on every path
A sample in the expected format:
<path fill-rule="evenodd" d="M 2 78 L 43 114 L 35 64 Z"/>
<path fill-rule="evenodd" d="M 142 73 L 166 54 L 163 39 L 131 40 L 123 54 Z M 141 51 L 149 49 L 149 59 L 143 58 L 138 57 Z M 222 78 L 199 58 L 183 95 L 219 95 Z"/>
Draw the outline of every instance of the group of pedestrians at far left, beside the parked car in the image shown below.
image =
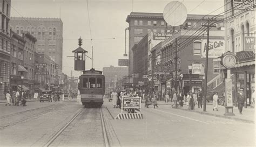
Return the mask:
<path fill-rule="evenodd" d="M 12 91 L 10 93 L 9 91 L 6 92 L 5 98 L 6 98 L 6 104 L 5 106 L 26 106 L 26 98 L 28 97 L 28 93 L 26 93 L 24 90 L 17 90 L 17 91 Z M 19 103 L 21 102 L 21 104 Z"/>

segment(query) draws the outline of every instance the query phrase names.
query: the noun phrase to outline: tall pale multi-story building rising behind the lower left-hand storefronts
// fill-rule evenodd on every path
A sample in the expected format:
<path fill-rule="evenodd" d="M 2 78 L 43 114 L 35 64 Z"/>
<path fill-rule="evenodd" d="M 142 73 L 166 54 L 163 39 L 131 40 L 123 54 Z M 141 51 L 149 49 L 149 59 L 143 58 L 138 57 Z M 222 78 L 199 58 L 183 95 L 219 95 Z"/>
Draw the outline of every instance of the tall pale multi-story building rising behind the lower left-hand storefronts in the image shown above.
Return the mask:
<path fill-rule="evenodd" d="M 62 71 L 63 22 L 60 18 L 12 17 L 10 27 L 17 34 L 28 31 L 36 37 L 36 51 L 51 57 Z"/>

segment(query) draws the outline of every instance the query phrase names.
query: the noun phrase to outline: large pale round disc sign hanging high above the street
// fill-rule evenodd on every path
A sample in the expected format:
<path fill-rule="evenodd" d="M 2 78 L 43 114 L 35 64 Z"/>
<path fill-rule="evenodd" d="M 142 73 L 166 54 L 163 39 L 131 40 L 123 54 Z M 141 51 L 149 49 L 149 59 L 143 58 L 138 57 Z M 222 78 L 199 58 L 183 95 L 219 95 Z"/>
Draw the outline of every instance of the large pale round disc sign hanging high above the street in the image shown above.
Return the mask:
<path fill-rule="evenodd" d="M 179 26 L 187 19 L 187 9 L 183 3 L 173 1 L 164 8 L 164 20 L 171 26 Z"/>

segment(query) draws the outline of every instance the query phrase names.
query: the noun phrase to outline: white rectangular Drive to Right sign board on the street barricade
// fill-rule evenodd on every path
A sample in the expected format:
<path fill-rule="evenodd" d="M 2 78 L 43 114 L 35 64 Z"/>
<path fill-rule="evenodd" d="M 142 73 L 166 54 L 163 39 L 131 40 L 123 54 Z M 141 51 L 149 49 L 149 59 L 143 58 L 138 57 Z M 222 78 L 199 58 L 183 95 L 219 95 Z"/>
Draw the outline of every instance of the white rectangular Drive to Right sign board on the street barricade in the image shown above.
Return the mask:
<path fill-rule="evenodd" d="M 122 107 L 123 108 L 138 108 L 140 109 L 141 97 L 123 97 Z"/>

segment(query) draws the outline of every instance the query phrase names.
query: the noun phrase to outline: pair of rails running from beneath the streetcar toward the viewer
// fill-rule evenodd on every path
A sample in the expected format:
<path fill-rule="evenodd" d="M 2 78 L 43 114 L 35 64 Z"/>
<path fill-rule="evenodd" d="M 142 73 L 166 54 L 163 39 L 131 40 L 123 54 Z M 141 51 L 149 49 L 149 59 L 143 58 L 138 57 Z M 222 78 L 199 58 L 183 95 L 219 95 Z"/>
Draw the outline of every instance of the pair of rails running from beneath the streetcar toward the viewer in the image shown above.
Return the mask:
<path fill-rule="evenodd" d="M 71 118 L 71 120 L 64 125 L 64 127 L 60 128 L 58 131 L 55 132 L 55 134 L 49 139 L 48 142 L 46 142 L 43 146 L 50 146 L 61 134 L 62 132 L 69 127 L 69 125 L 76 120 L 76 118 L 85 110 L 85 107 L 80 108 L 75 115 Z M 102 108 L 99 108 L 100 111 L 100 122 L 102 124 L 102 131 L 103 131 L 103 139 L 104 139 L 104 146 L 109 147 L 109 137 L 107 136 L 106 133 L 106 127 L 105 127 L 105 122 L 104 122 L 104 116 L 102 112 Z"/>

